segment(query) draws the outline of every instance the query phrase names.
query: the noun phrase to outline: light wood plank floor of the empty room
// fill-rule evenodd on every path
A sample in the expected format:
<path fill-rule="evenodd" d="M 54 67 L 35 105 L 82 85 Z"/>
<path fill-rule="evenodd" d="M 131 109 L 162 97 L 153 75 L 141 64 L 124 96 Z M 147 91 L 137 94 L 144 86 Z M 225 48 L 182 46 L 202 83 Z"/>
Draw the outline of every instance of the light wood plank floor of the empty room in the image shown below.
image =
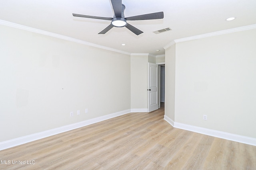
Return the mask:
<path fill-rule="evenodd" d="M 255 146 L 176 129 L 163 118 L 164 107 L 129 113 L 2 150 L 0 169 L 256 170 Z"/>

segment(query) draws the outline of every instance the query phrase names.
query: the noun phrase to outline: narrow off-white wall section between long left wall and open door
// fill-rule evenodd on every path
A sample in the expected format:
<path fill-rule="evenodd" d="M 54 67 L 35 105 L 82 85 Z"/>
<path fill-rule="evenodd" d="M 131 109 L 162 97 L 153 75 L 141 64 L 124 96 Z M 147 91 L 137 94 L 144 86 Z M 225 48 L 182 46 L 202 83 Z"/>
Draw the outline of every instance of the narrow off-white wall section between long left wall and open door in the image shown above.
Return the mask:
<path fill-rule="evenodd" d="M 131 56 L 131 108 L 148 108 L 148 56 Z"/>

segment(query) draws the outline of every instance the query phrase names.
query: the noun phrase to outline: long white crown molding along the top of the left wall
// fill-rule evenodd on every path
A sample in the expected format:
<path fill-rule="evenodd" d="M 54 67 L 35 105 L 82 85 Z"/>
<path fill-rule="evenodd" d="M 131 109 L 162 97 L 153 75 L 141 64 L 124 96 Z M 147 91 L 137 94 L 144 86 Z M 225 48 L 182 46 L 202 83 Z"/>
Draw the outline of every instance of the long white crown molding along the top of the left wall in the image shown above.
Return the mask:
<path fill-rule="evenodd" d="M 126 51 L 121 51 L 121 50 L 113 49 L 113 48 L 110 48 L 110 47 L 105 47 L 105 46 L 102 46 L 102 45 L 89 43 L 87 41 L 74 39 L 74 38 L 71 38 L 71 37 L 67 37 L 67 36 L 64 36 L 64 35 L 56 34 L 56 33 L 51 33 L 51 32 L 48 32 L 48 31 L 43 31 L 41 29 L 27 27 L 27 26 L 20 25 L 20 24 L 17 24 L 17 23 L 12 23 L 12 22 L 9 22 L 9 21 L 0 20 L 0 25 L 5 25 L 5 26 L 8 26 L 8 27 L 13 27 L 13 28 L 22 29 L 22 30 L 25 30 L 25 31 L 39 33 L 39 34 L 42 34 L 42 35 L 48 35 L 50 37 L 64 39 L 64 40 L 67 40 L 67 41 L 72 41 L 72 42 L 75 42 L 75 43 L 80 43 L 80 44 L 84 44 L 84 45 L 88 45 L 88 46 L 92 46 L 92 47 L 96 47 L 96 48 L 100 48 L 100 49 L 105 49 L 105 50 L 108 50 L 108 51 L 114 51 L 114 52 L 117 52 L 117 53 L 131 55 L 131 53 L 128 53 Z"/>

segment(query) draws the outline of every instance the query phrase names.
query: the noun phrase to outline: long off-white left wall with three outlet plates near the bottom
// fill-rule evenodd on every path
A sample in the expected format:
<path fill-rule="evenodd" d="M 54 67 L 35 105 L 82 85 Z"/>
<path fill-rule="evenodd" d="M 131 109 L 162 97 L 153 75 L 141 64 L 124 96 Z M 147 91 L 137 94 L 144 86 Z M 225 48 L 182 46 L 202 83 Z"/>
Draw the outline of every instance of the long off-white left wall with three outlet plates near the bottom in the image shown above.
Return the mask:
<path fill-rule="evenodd" d="M 129 55 L 3 25 L 0 37 L 0 142 L 130 109 Z"/>

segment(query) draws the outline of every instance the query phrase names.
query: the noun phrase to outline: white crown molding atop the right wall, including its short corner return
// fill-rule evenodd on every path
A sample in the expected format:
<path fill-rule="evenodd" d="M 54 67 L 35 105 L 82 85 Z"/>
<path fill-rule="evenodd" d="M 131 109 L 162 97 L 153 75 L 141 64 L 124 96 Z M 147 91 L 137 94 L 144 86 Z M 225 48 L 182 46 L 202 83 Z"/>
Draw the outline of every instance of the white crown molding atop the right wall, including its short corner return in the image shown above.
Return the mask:
<path fill-rule="evenodd" d="M 222 31 L 216 31 L 216 32 L 212 32 L 212 33 L 206 33 L 206 34 L 202 34 L 202 35 L 196 35 L 196 36 L 192 36 L 192 37 L 175 39 L 172 42 L 170 42 L 169 44 L 167 44 L 166 46 L 164 46 L 164 49 L 168 49 L 175 43 L 180 43 L 180 42 L 190 41 L 190 40 L 195 40 L 195 39 L 201 39 L 201 38 L 206 38 L 206 37 L 213 37 L 216 35 L 223 35 L 223 34 L 228 34 L 228 33 L 239 32 L 239 31 L 246 31 L 249 29 L 256 29 L 256 24 L 232 28 L 232 29 L 226 29 L 226 30 L 222 30 Z"/>

